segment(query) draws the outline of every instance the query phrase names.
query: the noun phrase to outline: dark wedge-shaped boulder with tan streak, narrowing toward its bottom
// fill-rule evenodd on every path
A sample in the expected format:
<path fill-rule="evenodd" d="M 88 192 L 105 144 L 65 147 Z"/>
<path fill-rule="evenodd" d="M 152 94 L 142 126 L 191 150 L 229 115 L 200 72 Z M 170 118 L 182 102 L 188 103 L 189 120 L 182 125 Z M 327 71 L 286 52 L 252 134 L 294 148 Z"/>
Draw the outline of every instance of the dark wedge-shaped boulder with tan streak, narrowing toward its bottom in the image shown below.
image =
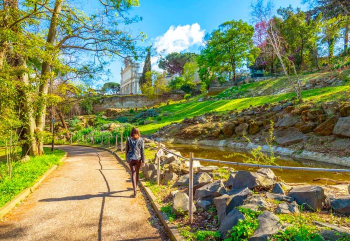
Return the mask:
<path fill-rule="evenodd" d="M 214 204 L 217 210 L 218 221 L 221 222 L 234 207 L 242 205 L 249 195 L 251 195 L 251 190 L 242 188 L 233 189 L 227 194 L 215 197 Z"/>

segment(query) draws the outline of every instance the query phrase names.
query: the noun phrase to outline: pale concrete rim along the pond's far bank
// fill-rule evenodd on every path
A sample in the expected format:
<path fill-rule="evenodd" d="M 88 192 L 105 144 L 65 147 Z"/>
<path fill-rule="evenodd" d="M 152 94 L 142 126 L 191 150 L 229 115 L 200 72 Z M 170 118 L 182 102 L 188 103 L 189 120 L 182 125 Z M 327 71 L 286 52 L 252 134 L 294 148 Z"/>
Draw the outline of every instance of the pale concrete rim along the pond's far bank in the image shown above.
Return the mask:
<path fill-rule="evenodd" d="M 176 143 L 176 144 L 199 144 L 199 145 L 211 145 L 211 146 L 222 146 L 222 147 L 232 147 L 237 150 L 249 151 L 253 148 L 258 147 L 258 144 L 254 143 L 242 143 L 234 142 L 230 140 L 182 140 L 182 139 L 172 139 L 172 138 L 154 138 L 155 141 L 163 143 Z M 269 152 L 268 145 L 261 145 L 261 150 L 263 152 Z M 338 157 L 330 156 L 327 154 L 308 151 L 308 150 L 292 150 L 286 147 L 273 146 L 273 151 L 283 157 L 290 157 L 296 160 L 311 160 L 319 161 L 330 164 L 342 165 L 350 167 L 350 157 Z"/>

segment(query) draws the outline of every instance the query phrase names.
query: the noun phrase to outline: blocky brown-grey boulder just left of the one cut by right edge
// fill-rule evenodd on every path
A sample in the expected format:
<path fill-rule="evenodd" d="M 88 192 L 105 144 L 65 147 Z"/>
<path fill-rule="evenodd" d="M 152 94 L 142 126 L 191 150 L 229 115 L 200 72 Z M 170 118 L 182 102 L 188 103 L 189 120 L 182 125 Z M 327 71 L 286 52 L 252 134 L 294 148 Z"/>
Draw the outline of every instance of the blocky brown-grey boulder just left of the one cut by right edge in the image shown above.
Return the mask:
<path fill-rule="evenodd" d="M 323 188 L 317 185 L 293 187 L 288 195 L 294 197 L 298 204 L 306 203 L 305 208 L 311 207 L 314 210 L 323 208 L 326 197 Z"/>

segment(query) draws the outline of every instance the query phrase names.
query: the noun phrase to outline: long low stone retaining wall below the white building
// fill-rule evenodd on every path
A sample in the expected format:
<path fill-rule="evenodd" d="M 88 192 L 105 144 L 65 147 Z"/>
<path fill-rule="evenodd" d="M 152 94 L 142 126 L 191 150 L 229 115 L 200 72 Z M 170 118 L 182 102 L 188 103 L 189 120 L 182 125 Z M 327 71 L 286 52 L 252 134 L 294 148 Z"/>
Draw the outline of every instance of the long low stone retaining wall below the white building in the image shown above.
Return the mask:
<path fill-rule="evenodd" d="M 183 93 L 167 94 L 159 96 L 158 101 L 164 102 L 168 99 L 180 100 Z M 141 108 L 143 106 L 150 107 L 157 103 L 157 99 L 148 99 L 145 95 L 124 95 L 124 96 L 105 96 L 101 97 L 93 103 L 93 113 L 103 111 L 106 108 Z"/>

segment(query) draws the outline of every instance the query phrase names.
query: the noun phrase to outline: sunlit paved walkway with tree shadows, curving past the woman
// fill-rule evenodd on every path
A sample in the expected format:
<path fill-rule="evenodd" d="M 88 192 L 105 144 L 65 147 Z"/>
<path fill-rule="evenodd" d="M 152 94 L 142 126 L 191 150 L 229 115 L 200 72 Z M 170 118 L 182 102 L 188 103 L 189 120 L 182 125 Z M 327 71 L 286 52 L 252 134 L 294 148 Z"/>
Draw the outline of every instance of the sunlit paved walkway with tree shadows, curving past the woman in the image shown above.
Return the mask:
<path fill-rule="evenodd" d="M 0 222 L 0 240 L 163 240 L 142 194 L 108 152 L 60 146 L 66 160 Z M 166 238 L 167 239 L 167 238 Z"/>

